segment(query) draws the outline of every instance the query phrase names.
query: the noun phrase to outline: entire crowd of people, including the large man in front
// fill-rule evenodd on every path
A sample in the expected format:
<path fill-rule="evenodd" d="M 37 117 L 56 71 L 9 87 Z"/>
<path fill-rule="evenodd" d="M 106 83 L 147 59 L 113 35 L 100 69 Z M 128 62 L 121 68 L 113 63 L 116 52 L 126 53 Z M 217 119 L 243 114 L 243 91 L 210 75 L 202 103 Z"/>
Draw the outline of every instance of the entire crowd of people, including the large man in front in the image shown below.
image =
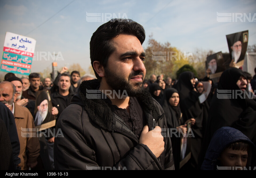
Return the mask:
<path fill-rule="evenodd" d="M 67 67 L 54 81 L 41 81 L 38 73 L 6 74 L 0 82 L 1 169 L 256 166 L 256 68 L 251 77 L 230 67 L 218 83 L 191 71 L 176 80 L 155 74 L 146 80 L 144 40 L 137 22 L 112 19 L 91 37 L 96 78 L 69 74 Z M 126 95 L 114 97 L 118 93 Z M 61 137 L 28 135 L 23 128 L 61 129 Z"/>

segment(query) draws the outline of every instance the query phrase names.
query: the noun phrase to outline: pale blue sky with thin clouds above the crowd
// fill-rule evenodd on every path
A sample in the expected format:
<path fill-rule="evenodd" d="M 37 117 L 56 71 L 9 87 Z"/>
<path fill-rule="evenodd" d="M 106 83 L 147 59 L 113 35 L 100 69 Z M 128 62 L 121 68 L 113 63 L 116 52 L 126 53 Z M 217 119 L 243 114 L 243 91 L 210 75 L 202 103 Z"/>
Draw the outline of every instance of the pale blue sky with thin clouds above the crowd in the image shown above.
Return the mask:
<path fill-rule="evenodd" d="M 100 13 L 100 22 L 89 22 L 86 12 Z M 256 1 L 1 0 L 0 48 L 7 31 L 17 33 L 37 40 L 36 52 L 60 52 L 63 61 L 58 61 L 58 67 L 80 63 L 86 71 L 91 35 L 108 20 L 105 16 L 114 15 L 133 19 L 145 28 L 144 49 L 151 34 L 160 43 L 169 42 L 192 53 L 197 48 L 228 52 L 226 35 L 245 30 L 249 30 L 248 45 L 256 44 L 256 22 L 243 17 L 243 22 L 235 22 L 236 18 L 218 22 L 217 12 L 251 15 L 256 21 Z M 52 62 L 51 58 L 33 61 L 31 72 L 41 72 Z"/>

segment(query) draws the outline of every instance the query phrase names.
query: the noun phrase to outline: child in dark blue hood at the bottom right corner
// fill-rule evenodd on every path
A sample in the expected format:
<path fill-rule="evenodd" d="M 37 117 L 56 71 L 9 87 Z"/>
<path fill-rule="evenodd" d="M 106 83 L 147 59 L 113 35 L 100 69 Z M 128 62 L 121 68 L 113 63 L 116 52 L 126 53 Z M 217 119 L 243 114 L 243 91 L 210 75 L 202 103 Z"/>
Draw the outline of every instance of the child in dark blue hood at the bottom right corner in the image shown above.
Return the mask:
<path fill-rule="evenodd" d="M 255 145 L 253 142 L 237 129 L 222 127 L 214 133 L 201 169 L 249 170 L 249 167 L 255 166 L 254 163 Z"/>

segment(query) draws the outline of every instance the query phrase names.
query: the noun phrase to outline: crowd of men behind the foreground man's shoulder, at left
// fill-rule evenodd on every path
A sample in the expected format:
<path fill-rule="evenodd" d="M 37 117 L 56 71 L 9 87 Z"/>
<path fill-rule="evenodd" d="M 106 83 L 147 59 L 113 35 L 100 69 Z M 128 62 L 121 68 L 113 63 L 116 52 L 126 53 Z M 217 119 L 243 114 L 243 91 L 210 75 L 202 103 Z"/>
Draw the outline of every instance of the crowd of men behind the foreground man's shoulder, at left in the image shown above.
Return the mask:
<path fill-rule="evenodd" d="M 54 81 L 49 77 L 41 81 L 38 73 L 31 73 L 29 78 L 18 78 L 13 73 L 7 73 L 5 81 L 0 82 L 1 119 L 6 125 L 12 146 L 12 152 L 5 147 L 1 151 L 1 158 L 5 158 L 6 161 L 1 160 L 1 169 L 54 169 L 55 126 L 49 128 L 53 132 L 50 137 L 39 138 L 24 135 L 22 128 L 35 129 L 36 126 L 49 123 L 51 120 L 57 122 L 79 84 L 84 80 L 94 79 L 93 75 L 86 74 L 80 77 L 78 71 L 69 74 L 67 70 L 67 67 L 63 67 Z M 37 92 L 42 90 L 49 91 L 50 99 L 44 93 L 37 95 Z M 51 112 L 48 108 L 52 108 Z"/>

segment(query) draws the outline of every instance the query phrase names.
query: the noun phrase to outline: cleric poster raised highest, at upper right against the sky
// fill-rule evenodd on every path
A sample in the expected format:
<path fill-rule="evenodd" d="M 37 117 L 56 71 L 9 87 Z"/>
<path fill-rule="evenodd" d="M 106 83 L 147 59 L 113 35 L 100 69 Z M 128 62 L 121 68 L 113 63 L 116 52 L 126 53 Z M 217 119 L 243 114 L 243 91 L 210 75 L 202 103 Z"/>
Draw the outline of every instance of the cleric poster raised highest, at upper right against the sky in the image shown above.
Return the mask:
<path fill-rule="evenodd" d="M 243 65 L 248 44 L 248 30 L 226 35 L 229 46 L 230 58 L 234 67 L 239 68 Z"/>

